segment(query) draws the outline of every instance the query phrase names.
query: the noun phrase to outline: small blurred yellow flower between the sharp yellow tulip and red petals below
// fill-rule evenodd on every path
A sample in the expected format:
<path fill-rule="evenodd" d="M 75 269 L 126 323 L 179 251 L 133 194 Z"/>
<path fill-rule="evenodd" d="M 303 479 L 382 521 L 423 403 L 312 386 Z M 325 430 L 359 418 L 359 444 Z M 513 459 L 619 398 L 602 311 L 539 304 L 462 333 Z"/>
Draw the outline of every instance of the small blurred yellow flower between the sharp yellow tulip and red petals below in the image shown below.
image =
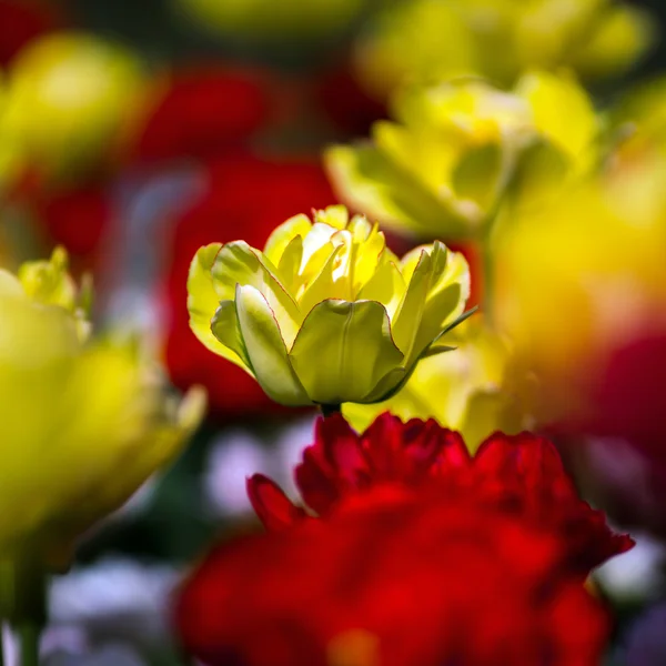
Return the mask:
<path fill-rule="evenodd" d="M 481 317 L 458 326 L 447 340 L 454 354 L 424 359 L 400 393 L 374 404 L 347 404 L 343 414 L 364 431 L 382 412 L 403 421 L 434 418 L 463 434 L 476 447 L 495 431 L 515 434 L 528 426 L 527 415 L 512 392 L 509 350 Z"/>

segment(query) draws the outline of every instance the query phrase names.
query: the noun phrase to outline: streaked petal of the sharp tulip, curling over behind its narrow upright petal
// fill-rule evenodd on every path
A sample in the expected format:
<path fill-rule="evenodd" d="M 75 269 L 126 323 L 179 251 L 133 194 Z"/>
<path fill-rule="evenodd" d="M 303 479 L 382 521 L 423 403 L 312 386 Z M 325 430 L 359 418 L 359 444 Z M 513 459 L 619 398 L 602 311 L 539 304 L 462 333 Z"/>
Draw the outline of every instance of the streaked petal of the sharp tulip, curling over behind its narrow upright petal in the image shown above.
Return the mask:
<path fill-rule="evenodd" d="M 302 322 L 295 301 L 278 280 L 278 269 L 244 241 L 222 246 L 212 268 L 213 283 L 221 301 L 232 301 L 236 285 L 258 289 L 280 322 L 280 331 L 291 345 Z"/>

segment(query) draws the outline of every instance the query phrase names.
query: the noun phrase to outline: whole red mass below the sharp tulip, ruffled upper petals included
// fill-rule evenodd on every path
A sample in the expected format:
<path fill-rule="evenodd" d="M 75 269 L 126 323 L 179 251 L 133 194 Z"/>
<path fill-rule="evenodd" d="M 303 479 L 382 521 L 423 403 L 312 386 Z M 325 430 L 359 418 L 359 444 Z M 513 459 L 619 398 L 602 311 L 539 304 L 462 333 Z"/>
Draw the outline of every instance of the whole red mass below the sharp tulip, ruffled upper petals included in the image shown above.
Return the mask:
<path fill-rule="evenodd" d="M 269 527 L 218 545 L 181 589 L 210 666 L 596 666 L 608 617 L 584 585 L 630 547 L 582 502 L 557 451 L 493 435 L 471 457 L 436 423 L 320 421 L 293 505 L 254 476 Z"/>

